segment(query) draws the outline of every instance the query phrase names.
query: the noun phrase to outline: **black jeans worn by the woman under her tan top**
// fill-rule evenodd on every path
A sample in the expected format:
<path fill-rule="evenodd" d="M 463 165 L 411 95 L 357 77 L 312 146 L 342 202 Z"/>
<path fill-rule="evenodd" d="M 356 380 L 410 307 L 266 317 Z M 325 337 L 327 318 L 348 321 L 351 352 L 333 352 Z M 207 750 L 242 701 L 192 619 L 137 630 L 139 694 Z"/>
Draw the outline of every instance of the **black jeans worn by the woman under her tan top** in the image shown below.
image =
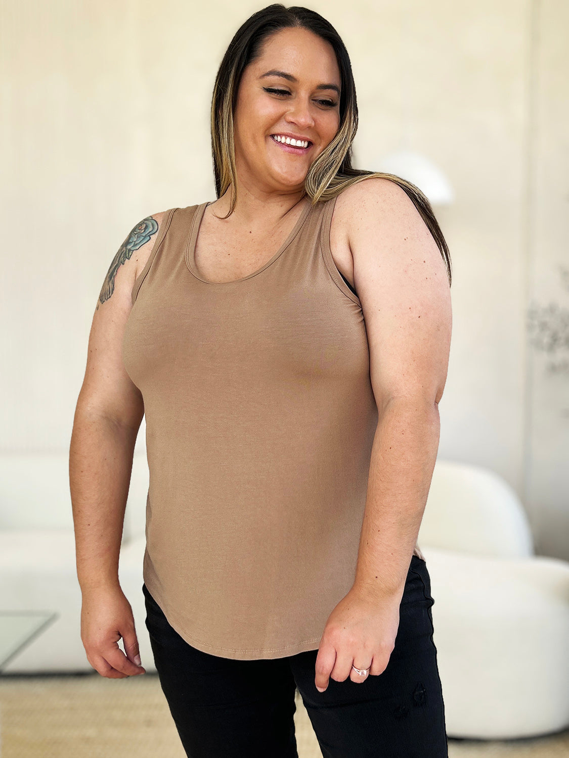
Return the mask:
<path fill-rule="evenodd" d="M 322 693 L 314 684 L 318 650 L 256 660 L 203 653 L 171 628 L 146 584 L 143 593 L 160 685 L 191 758 L 297 758 L 297 688 L 324 758 L 448 758 L 434 600 L 418 556 L 385 671 L 361 683 L 330 678 Z"/>

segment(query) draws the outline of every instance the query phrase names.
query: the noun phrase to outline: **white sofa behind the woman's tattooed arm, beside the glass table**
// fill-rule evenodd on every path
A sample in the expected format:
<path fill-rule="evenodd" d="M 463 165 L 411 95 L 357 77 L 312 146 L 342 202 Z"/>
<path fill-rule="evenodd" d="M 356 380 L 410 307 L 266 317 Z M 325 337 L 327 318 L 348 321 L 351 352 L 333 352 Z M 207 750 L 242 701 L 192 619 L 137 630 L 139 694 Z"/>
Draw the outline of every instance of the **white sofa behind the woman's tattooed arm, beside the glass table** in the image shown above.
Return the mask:
<path fill-rule="evenodd" d="M 93 671 L 80 639 L 81 593 L 68 465 L 64 453 L 0 456 L 0 634 L 2 612 L 57 614 L 55 621 L 9 659 L 2 672 Z M 119 579 L 133 609 L 143 666 L 156 671 L 142 592 L 148 478 L 146 453 L 136 453 L 124 514 Z"/>

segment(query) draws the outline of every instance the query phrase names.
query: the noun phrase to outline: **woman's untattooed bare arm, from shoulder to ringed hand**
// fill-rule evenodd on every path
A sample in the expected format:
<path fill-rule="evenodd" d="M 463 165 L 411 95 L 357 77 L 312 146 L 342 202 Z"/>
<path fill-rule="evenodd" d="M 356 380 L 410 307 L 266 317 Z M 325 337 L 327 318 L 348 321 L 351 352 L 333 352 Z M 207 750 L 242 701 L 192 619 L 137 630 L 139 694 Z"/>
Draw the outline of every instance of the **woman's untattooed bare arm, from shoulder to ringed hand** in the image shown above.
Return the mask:
<path fill-rule="evenodd" d="M 349 193 L 349 199 L 347 196 Z M 316 687 L 381 674 L 439 447 L 439 400 L 451 343 L 445 262 L 403 189 L 372 178 L 345 191 L 354 283 L 369 343 L 379 420 L 369 465 L 354 585 L 326 623 Z"/>

